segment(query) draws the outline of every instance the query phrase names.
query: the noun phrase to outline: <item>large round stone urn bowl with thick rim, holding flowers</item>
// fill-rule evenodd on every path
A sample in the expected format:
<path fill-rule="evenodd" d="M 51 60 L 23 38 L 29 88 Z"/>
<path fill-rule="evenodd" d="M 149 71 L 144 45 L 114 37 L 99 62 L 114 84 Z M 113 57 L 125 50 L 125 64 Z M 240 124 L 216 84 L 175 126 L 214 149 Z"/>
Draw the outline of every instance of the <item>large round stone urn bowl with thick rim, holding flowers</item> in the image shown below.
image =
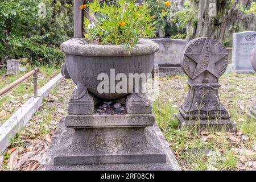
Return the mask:
<path fill-rule="evenodd" d="M 158 44 L 151 40 L 141 39 L 129 55 L 129 48 L 125 46 L 109 46 L 88 44 L 85 39 L 74 38 L 61 44 L 61 50 L 65 53 L 65 67 L 68 75 L 77 85 L 72 95 L 73 100 L 82 98 L 88 90 L 97 98 L 102 100 L 117 100 L 131 93 L 134 87 L 129 86 L 124 93 L 113 92 L 113 87 L 119 82 L 115 81 L 115 75 L 123 73 L 129 78 L 129 73 L 151 73 L 155 52 Z M 112 73 L 111 73 L 112 71 Z M 99 93 L 98 75 L 105 73 L 109 79 L 109 93 Z M 110 80 L 114 80 L 111 84 Z M 144 83 L 141 83 L 144 84 Z"/>

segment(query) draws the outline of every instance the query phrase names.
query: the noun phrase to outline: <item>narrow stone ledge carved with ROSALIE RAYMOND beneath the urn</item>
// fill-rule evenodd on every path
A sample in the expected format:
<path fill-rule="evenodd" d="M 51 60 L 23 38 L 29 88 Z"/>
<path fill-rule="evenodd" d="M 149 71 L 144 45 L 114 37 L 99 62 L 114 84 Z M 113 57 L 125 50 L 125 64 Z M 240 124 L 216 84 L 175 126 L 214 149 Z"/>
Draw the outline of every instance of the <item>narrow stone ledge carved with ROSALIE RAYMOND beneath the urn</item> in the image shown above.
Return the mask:
<path fill-rule="evenodd" d="M 142 127 L 154 125 L 152 114 L 126 114 L 126 115 L 67 115 L 67 127 Z"/>

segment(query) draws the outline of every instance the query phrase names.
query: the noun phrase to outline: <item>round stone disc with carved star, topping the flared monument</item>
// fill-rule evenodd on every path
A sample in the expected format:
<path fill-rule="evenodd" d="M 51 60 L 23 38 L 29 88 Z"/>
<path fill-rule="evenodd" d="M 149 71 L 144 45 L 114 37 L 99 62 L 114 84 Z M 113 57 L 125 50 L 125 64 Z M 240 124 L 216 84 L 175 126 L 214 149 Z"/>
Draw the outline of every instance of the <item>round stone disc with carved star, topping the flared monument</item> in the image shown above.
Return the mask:
<path fill-rule="evenodd" d="M 181 67 L 192 80 L 204 72 L 216 78 L 221 77 L 228 68 L 228 52 L 225 47 L 212 38 L 197 38 L 183 49 Z"/>

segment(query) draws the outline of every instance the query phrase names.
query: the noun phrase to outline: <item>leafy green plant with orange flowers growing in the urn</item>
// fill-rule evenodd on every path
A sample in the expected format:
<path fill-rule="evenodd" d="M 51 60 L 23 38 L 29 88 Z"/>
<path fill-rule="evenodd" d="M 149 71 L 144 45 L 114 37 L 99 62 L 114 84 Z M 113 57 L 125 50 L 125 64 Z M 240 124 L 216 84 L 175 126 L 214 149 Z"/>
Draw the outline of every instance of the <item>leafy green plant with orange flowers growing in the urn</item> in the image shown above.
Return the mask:
<path fill-rule="evenodd" d="M 131 49 L 139 38 L 155 36 L 156 16 L 165 16 L 169 12 L 170 2 L 166 1 L 166 9 L 152 15 L 149 1 L 136 0 L 94 0 L 82 5 L 87 14 L 94 15 L 94 21 L 85 18 L 85 38 L 97 40 L 98 44 L 125 45 Z M 165 5 L 165 4 L 164 4 Z"/>

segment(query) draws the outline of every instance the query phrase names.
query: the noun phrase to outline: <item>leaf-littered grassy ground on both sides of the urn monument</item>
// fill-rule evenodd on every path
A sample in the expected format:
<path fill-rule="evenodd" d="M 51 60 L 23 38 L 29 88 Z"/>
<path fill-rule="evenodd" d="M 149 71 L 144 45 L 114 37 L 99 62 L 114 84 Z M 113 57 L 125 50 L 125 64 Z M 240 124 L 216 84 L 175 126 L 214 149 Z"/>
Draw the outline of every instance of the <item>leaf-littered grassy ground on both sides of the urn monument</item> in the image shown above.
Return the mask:
<path fill-rule="evenodd" d="M 44 74 L 51 77 L 47 73 Z M 238 125 L 234 134 L 179 130 L 175 116 L 187 96 L 187 76 L 160 77 L 159 83 L 160 96 L 153 103 L 155 118 L 181 169 L 256 170 L 256 122 L 246 119 L 246 112 L 256 100 L 255 73 L 225 73 L 220 78 L 221 102 Z M 27 86 L 30 84 L 28 82 Z M 38 169 L 58 122 L 66 114 L 73 88 L 75 85 L 71 80 L 64 80 L 49 94 L 26 129 L 16 134 L 6 152 L 0 155 L 2 170 Z M 22 93 L 22 90 L 20 88 L 21 96 L 32 91 Z M 7 98 L 5 103 L 11 101 L 18 100 Z"/>

